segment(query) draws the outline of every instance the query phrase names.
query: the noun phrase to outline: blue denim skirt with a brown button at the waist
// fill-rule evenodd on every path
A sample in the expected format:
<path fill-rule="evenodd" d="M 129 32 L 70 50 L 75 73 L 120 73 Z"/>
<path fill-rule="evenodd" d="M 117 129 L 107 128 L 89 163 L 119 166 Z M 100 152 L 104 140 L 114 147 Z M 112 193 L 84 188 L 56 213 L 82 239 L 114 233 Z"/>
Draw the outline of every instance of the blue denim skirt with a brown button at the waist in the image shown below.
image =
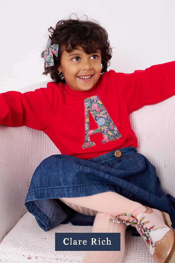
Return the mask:
<path fill-rule="evenodd" d="M 58 198 L 107 191 L 167 212 L 175 227 L 175 198 L 161 190 L 155 167 L 133 147 L 119 150 L 119 158 L 114 150 L 90 160 L 52 155 L 40 163 L 31 179 L 25 206 L 44 231 L 62 222 L 92 225 L 94 216 L 79 214 Z"/>

